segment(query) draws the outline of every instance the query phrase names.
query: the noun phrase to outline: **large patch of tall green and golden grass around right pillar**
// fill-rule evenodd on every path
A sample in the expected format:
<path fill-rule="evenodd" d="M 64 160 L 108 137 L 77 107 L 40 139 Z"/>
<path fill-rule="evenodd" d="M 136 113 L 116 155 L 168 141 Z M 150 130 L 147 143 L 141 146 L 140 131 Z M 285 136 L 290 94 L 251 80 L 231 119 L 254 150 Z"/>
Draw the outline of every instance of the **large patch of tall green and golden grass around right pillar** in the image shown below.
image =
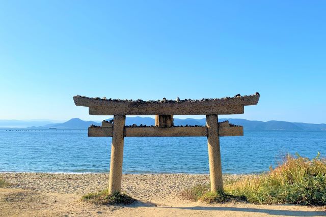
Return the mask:
<path fill-rule="evenodd" d="M 241 199 L 255 204 L 326 205 L 326 160 L 286 156 L 268 173 L 224 183 L 224 192 L 210 193 L 209 184 L 182 193 L 185 199 L 223 202 Z"/>

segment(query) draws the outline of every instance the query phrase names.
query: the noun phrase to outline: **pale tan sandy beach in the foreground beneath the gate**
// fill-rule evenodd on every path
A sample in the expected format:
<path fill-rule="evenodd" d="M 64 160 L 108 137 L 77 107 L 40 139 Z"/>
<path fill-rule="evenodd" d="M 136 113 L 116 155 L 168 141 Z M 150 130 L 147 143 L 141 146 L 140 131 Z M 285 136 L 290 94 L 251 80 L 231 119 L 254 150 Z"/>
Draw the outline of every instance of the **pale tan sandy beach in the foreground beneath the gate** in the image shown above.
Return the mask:
<path fill-rule="evenodd" d="M 180 198 L 183 189 L 208 183 L 208 175 L 125 174 L 122 191 L 138 199 L 128 206 L 80 200 L 83 194 L 107 187 L 108 174 L 0 173 L 0 178 L 11 183 L 0 189 L 0 216 L 326 216 L 325 207 L 206 204 Z"/>

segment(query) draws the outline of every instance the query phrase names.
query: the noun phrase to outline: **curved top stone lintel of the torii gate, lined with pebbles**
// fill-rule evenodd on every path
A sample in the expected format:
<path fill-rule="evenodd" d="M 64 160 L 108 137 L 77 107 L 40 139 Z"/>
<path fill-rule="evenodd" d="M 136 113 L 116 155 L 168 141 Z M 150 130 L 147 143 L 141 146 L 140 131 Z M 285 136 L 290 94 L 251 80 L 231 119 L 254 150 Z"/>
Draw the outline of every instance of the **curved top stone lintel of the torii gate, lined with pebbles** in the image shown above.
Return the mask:
<path fill-rule="evenodd" d="M 77 106 L 89 107 L 93 115 L 168 115 L 168 114 L 242 114 L 243 106 L 256 105 L 258 95 L 222 98 L 212 100 L 180 101 L 118 101 L 101 100 L 76 96 L 73 100 Z"/>

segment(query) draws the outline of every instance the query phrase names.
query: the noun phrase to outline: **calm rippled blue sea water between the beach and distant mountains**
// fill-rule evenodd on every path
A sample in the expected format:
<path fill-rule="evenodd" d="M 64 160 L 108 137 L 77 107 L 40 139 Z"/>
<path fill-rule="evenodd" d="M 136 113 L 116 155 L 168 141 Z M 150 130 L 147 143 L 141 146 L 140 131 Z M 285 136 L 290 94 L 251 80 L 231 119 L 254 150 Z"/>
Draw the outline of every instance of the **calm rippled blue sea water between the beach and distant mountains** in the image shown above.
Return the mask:
<path fill-rule="evenodd" d="M 224 173 L 257 173 L 286 153 L 326 156 L 326 131 L 245 131 L 221 137 Z M 87 130 L 0 129 L 0 172 L 108 172 L 111 138 Z M 205 137 L 125 138 L 124 173 L 208 173 Z"/>

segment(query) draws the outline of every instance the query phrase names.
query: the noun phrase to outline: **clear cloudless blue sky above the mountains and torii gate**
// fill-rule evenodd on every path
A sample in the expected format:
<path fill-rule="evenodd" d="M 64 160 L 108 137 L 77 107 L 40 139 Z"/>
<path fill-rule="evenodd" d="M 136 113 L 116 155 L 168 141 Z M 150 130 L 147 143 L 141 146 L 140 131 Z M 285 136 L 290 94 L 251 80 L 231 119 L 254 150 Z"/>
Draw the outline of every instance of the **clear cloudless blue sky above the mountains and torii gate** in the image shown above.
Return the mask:
<path fill-rule="evenodd" d="M 77 94 L 259 91 L 230 117 L 325 123 L 325 11 L 317 0 L 1 1 L 0 119 L 103 119 Z"/>

